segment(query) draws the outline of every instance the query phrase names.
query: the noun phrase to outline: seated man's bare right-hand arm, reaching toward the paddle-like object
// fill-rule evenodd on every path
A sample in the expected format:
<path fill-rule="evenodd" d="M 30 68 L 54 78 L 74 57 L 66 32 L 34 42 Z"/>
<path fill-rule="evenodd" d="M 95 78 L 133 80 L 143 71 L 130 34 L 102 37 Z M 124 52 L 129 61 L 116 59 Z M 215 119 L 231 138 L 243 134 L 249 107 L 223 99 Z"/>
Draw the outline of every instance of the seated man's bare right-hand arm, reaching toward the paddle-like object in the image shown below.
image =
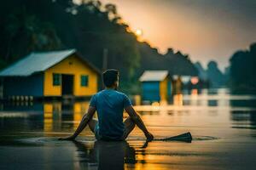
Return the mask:
<path fill-rule="evenodd" d="M 143 133 L 145 134 L 146 138 L 150 141 L 154 139 L 153 134 L 148 132 L 147 127 L 145 126 L 143 120 L 141 117 L 137 114 L 137 112 L 133 109 L 131 105 L 125 107 L 125 111 L 128 113 L 129 116 L 131 116 L 131 119 L 133 122 L 137 124 L 137 127 L 139 127 Z"/>

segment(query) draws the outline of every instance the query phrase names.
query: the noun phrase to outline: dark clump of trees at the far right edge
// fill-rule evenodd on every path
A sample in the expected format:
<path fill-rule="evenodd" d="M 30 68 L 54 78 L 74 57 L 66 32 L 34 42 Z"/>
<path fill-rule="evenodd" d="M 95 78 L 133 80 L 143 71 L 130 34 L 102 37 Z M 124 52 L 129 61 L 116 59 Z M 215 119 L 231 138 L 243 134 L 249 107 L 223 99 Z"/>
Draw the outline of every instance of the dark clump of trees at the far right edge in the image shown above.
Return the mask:
<path fill-rule="evenodd" d="M 256 91 L 256 43 L 230 58 L 230 86 L 235 92 Z"/>

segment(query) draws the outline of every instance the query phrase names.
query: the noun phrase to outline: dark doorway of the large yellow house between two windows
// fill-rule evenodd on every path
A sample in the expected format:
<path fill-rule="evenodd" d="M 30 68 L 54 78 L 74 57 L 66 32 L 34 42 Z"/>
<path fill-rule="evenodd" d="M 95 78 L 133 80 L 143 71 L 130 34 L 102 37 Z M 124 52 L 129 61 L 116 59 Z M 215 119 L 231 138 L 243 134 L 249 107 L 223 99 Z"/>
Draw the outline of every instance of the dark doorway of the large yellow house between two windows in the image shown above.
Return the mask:
<path fill-rule="evenodd" d="M 62 95 L 73 95 L 73 75 L 61 75 Z"/>

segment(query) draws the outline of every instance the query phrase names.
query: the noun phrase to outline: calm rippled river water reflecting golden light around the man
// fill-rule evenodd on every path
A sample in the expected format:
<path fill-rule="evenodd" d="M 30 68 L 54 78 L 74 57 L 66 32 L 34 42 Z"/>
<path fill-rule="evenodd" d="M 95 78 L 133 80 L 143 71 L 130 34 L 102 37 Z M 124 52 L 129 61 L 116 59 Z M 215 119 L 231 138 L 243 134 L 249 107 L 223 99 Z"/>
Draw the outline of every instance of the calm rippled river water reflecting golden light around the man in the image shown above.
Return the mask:
<path fill-rule="evenodd" d="M 88 105 L 89 101 L 0 104 L 0 144 L 3 144 L 0 169 L 8 169 L 11 162 L 27 169 L 26 164 L 32 163 L 28 163 L 29 158 L 35 166 L 47 164 L 49 168 L 65 162 L 69 169 L 212 169 L 215 164 L 220 169 L 230 169 L 226 166 L 239 160 L 241 153 L 247 166 L 255 166 L 251 160 L 256 159 L 256 96 L 232 95 L 227 89 L 193 89 L 174 95 L 169 104 L 160 101 L 135 105 L 148 129 L 158 138 L 191 132 L 195 139 L 212 136 L 217 140 L 193 140 L 191 144 L 155 141 L 142 147 L 144 137 L 138 128 L 127 142 L 104 143 L 94 141 L 86 127 L 77 142 L 43 141 L 43 145 L 35 144 L 31 151 L 22 145 L 19 150 L 24 150 L 26 155 L 15 160 L 6 158 L 20 153 L 16 148 L 5 147 L 5 144 L 15 146 L 15 139 L 53 138 L 73 133 Z M 55 153 L 62 154 L 55 156 Z M 219 161 L 220 158 L 224 161 Z"/>

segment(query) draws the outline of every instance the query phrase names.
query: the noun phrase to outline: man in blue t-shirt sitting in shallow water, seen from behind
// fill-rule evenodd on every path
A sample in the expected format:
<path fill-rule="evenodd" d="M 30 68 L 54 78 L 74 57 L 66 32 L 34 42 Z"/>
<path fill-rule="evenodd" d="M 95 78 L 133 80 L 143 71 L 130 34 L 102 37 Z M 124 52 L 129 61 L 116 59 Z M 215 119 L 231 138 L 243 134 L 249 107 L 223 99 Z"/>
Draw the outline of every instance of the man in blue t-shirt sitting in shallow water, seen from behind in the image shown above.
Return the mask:
<path fill-rule="evenodd" d="M 130 99 L 117 91 L 119 71 L 113 69 L 105 71 L 102 78 L 106 88 L 92 96 L 88 112 L 83 116 L 75 133 L 61 139 L 74 140 L 88 124 L 97 140 L 125 140 L 135 125 L 143 131 L 147 141 L 153 140 L 154 136 L 148 132 L 142 119 L 134 111 Z M 124 109 L 129 115 L 125 122 L 123 122 Z M 98 121 L 92 118 L 96 111 Z"/>

